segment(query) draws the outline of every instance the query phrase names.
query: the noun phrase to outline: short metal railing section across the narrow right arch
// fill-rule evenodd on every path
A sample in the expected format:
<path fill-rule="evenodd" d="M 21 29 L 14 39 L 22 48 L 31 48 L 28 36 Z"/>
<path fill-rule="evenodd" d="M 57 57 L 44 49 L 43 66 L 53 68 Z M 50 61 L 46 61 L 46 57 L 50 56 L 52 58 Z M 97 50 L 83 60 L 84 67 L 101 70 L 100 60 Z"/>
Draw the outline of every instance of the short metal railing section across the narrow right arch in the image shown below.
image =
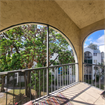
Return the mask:
<path fill-rule="evenodd" d="M 105 90 L 105 65 L 83 63 L 84 82 Z"/>

